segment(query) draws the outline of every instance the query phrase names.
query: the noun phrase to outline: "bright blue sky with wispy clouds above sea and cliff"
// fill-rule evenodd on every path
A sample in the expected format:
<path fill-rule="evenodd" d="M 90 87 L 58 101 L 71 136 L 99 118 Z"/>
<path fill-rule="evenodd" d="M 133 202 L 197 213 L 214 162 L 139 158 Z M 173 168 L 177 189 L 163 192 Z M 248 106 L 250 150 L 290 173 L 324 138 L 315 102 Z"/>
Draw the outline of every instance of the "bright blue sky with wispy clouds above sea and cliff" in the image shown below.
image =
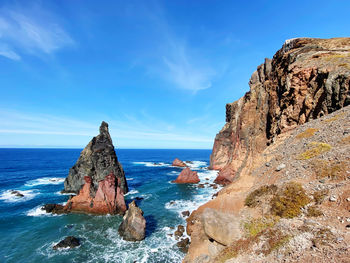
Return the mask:
<path fill-rule="evenodd" d="M 286 39 L 344 37 L 350 1 L 0 1 L 0 146 L 212 147 Z"/>

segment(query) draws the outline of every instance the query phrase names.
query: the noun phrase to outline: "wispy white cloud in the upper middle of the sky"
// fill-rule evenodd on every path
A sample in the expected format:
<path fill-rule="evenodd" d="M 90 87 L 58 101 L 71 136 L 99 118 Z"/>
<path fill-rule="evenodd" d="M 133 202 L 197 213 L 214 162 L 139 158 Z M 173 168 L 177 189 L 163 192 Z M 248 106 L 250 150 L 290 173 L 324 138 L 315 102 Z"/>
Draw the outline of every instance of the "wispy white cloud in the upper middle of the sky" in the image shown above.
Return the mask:
<path fill-rule="evenodd" d="M 203 50 L 198 45 L 191 45 L 185 34 L 173 30 L 160 3 L 150 3 L 153 4 L 142 10 L 142 15 L 149 30 L 154 30 L 157 35 L 152 40 L 152 47 L 155 48 L 152 54 L 158 58 L 158 63 L 147 67 L 175 88 L 193 93 L 210 88 L 216 73 Z"/>

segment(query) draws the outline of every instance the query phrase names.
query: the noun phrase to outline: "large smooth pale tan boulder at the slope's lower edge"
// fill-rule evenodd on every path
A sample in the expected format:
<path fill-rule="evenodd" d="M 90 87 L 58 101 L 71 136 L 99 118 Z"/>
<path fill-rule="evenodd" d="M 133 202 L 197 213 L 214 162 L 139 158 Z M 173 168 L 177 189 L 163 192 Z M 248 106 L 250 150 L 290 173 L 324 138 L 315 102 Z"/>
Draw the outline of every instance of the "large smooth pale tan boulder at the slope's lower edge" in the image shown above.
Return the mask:
<path fill-rule="evenodd" d="M 202 214 L 202 223 L 205 234 L 222 245 L 229 245 L 242 237 L 239 218 L 206 208 Z"/>

